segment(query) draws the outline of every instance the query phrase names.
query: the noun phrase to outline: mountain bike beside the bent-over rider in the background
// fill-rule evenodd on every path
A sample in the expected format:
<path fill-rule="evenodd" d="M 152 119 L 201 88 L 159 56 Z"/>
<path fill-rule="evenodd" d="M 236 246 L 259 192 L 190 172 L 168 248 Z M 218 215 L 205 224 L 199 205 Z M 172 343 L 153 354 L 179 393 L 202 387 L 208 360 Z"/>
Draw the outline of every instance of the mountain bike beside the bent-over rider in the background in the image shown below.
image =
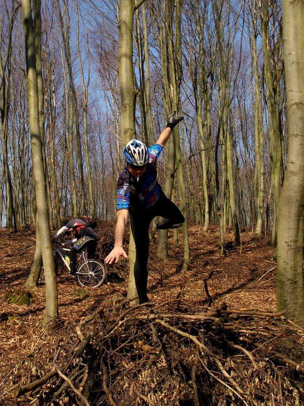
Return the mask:
<path fill-rule="evenodd" d="M 59 244 L 59 243 L 57 243 Z M 62 247 L 61 244 L 54 251 L 54 258 L 61 258 L 65 267 L 70 271 L 69 258 L 65 253 L 70 251 L 69 248 Z M 76 282 L 83 287 L 99 288 L 105 280 L 106 271 L 104 265 L 96 259 L 88 259 L 84 251 L 81 251 L 77 260 L 77 269 L 75 273 Z M 80 263 L 79 263 L 80 262 Z M 58 263 L 55 260 L 55 270 L 57 273 Z M 39 283 L 45 282 L 44 267 L 42 266 Z"/>

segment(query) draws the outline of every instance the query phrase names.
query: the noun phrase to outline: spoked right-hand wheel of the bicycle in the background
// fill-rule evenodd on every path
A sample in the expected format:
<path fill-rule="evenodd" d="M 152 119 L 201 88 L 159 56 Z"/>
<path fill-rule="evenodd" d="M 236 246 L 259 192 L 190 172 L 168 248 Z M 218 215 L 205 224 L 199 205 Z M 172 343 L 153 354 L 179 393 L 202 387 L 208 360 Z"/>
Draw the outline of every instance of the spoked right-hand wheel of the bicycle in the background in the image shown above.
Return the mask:
<path fill-rule="evenodd" d="M 77 269 L 76 281 L 80 286 L 98 288 L 104 280 L 105 267 L 95 259 L 89 259 Z"/>

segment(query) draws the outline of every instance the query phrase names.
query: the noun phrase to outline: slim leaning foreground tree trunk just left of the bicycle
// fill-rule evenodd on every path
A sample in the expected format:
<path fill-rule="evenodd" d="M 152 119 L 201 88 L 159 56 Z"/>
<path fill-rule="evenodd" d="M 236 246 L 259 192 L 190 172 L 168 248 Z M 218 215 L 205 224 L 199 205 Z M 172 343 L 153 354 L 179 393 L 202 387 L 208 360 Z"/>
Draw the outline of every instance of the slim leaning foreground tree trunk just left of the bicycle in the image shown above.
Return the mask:
<path fill-rule="evenodd" d="M 35 185 L 37 216 L 39 217 L 42 256 L 46 278 L 46 310 L 43 324 L 46 325 L 58 317 L 57 281 L 54 266 L 51 233 L 48 219 L 47 194 L 43 167 L 42 141 L 39 122 L 39 95 L 37 89 L 36 57 L 34 46 L 33 20 L 30 0 L 22 0 L 23 25 L 25 34 L 26 79 L 28 95 L 29 128 L 33 178 Z"/>

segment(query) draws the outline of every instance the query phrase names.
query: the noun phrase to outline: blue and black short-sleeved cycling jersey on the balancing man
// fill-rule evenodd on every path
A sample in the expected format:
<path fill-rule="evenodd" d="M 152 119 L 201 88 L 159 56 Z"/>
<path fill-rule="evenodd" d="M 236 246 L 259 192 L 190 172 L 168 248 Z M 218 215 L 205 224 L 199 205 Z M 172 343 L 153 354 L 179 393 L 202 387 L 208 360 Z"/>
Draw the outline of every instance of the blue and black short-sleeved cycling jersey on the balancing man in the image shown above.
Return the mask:
<path fill-rule="evenodd" d="M 149 160 L 142 177 L 136 181 L 128 167 L 120 175 L 117 182 L 117 211 L 122 209 L 147 209 L 153 206 L 163 194 L 157 181 L 157 159 L 163 147 L 159 144 L 148 148 Z"/>

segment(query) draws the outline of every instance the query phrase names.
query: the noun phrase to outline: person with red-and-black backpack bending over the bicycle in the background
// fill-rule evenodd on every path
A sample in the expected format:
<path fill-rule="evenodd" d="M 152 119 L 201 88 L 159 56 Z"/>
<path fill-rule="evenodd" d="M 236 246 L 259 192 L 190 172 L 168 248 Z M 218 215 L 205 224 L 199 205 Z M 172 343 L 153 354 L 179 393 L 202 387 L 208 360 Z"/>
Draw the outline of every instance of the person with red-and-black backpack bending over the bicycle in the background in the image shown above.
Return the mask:
<path fill-rule="evenodd" d="M 96 253 L 97 241 L 99 240 L 94 228 L 96 227 L 96 221 L 92 217 L 80 216 L 67 222 L 61 227 L 53 236 L 53 240 L 57 240 L 60 234 L 66 232 L 74 232 L 74 239 L 62 244 L 66 247 L 71 247 L 69 252 L 70 260 L 70 275 L 75 275 L 76 272 L 76 255 L 77 252 L 83 251 L 87 248 L 88 258 L 92 259 Z"/>

